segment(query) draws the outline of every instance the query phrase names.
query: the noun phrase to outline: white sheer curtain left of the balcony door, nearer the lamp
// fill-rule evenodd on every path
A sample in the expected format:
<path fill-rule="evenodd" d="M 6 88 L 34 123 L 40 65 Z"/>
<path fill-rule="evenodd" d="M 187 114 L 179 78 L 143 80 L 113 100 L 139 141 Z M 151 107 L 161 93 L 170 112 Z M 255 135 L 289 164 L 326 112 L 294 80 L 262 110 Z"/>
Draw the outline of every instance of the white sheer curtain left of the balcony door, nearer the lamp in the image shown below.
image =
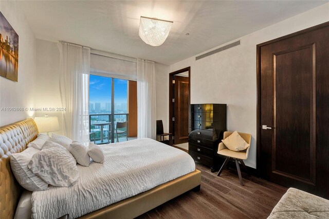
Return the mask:
<path fill-rule="evenodd" d="M 89 141 L 89 71 L 90 49 L 70 43 L 59 43 L 60 93 L 63 133 L 72 140 Z"/>

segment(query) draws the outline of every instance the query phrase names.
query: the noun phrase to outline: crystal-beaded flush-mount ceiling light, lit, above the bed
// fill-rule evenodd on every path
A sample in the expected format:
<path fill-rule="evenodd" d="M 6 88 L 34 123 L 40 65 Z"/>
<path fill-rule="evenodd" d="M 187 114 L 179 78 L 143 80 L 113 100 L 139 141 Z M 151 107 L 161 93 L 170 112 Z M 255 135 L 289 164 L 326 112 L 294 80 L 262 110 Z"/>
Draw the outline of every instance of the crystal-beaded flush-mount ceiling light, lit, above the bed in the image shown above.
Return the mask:
<path fill-rule="evenodd" d="M 146 44 L 160 46 L 166 41 L 173 23 L 172 21 L 140 16 L 139 37 Z"/>

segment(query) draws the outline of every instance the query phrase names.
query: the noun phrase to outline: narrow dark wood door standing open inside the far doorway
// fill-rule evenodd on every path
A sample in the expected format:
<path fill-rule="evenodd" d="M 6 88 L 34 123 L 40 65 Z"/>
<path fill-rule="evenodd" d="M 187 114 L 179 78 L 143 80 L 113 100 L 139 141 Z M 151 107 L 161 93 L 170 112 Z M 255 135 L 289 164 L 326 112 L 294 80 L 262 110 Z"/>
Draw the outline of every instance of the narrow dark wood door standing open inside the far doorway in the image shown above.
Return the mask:
<path fill-rule="evenodd" d="M 189 78 L 175 76 L 174 79 L 174 144 L 181 144 L 189 138 Z"/>

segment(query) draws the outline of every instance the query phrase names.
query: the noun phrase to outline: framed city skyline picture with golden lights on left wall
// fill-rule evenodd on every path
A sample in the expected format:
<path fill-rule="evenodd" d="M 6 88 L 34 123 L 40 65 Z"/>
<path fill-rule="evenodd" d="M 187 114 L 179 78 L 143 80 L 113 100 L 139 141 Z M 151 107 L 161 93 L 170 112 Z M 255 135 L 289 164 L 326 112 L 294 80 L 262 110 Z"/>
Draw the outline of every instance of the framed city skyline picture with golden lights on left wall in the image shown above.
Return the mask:
<path fill-rule="evenodd" d="M 0 11 L 0 75 L 18 80 L 19 35 Z"/>

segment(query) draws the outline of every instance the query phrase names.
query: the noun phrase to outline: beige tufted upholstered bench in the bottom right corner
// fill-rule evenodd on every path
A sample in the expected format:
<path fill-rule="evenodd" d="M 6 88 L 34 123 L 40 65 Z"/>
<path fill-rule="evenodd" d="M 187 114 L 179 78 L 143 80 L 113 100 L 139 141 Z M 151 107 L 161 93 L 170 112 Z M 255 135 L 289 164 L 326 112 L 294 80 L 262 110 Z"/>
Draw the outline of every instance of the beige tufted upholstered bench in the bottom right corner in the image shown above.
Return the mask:
<path fill-rule="evenodd" d="M 329 200 L 290 188 L 268 218 L 329 218 Z"/>

